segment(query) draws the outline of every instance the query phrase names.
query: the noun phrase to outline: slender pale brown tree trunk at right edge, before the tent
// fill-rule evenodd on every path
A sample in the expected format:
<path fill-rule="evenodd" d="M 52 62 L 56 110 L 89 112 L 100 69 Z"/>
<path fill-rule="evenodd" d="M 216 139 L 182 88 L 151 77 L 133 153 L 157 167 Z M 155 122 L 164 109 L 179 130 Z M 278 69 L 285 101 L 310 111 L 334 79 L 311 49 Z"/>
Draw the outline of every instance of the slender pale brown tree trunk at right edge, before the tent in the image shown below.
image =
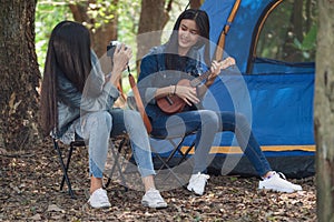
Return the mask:
<path fill-rule="evenodd" d="M 314 98 L 318 221 L 334 221 L 334 1 L 318 1 Z"/>

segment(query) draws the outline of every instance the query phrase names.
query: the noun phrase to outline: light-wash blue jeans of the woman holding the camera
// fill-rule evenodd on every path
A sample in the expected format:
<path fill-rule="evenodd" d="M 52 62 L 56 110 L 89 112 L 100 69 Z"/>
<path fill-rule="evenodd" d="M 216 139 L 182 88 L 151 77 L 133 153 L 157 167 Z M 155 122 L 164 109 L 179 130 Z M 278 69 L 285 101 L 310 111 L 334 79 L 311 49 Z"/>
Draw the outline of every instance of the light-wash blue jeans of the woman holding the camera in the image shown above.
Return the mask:
<path fill-rule="evenodd" d="M 88 140 L 89 171 L 95 178 L 102 178 L 110 135 L 124 133 L 129 135 L 141 178 L 155 174 L 149 140 L 139 112 L 122 109 L 91 112 L 81 118 L 81 129 L 76 128 L 76 132 Z"/>

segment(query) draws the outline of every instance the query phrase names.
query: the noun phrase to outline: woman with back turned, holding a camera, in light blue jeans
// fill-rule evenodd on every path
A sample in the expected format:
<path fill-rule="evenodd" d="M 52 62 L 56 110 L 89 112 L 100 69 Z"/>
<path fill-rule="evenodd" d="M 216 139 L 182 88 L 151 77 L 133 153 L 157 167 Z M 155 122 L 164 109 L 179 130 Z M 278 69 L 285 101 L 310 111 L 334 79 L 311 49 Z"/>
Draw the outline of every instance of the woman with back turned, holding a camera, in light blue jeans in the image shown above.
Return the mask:
<path fill-rule="evenodd" d="M 90 198 L 92 208 L 108 208 L 102 189 L 102 172 L 109 137 L 127 132 L 137 162 L 145 195 L 141 203 L 149 208 L 166 208 L 154 182 L 154 167 L 148 135 L 140 114 L 131 110 L 112 109 L 119 97 L 116 88 L 121 72 L 131 58 L 131 50 L 119 46 L 112 57 L 109 78 L 101 71 L 97 56 L 90 49 L 87 28 L 62 21 L 52 30 L 41 87 L 41 125 L 45 133 L 69 143 L 75 134 L 88 141 Z M 136 124 L 134 124 L 134 122 Z"/>

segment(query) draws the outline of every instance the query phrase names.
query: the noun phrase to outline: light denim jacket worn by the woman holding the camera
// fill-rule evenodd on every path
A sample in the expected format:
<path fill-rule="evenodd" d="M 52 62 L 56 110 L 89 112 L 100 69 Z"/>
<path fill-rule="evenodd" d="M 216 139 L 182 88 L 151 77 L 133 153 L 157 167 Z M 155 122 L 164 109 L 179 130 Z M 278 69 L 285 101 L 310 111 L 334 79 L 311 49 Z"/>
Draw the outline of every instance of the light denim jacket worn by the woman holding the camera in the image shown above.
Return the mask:
<path fill-rule="evenodd" d="M 62 72 L 57 74 L 58 97 L 58 130 L 51 132 L 65 143 L 75 139 L 72 123 L 79 120 L 80 114 L 112 109 L 114 102 L 119 97 L 116 87 L 106 82 L 105 73 L 94 51 L 91 51 L 92 70 L 86 80 L 84 93 L 68 80 Z"/>

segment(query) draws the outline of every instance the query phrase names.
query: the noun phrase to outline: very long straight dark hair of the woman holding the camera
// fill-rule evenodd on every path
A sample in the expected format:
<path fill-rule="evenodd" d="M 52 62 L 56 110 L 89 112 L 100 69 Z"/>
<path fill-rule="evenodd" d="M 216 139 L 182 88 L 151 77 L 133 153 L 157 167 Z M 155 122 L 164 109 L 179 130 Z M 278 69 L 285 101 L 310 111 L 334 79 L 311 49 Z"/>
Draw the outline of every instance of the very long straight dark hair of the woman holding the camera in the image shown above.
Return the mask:
<path fill-rule="evenodd" d="M 62 74 L 82 92 L 90 70 L 88 29 L 73 21 L 58 23 L 49 40 L 41 85 L 40 122 L 46 134 L 58 125 L 57 75 Z"/>

